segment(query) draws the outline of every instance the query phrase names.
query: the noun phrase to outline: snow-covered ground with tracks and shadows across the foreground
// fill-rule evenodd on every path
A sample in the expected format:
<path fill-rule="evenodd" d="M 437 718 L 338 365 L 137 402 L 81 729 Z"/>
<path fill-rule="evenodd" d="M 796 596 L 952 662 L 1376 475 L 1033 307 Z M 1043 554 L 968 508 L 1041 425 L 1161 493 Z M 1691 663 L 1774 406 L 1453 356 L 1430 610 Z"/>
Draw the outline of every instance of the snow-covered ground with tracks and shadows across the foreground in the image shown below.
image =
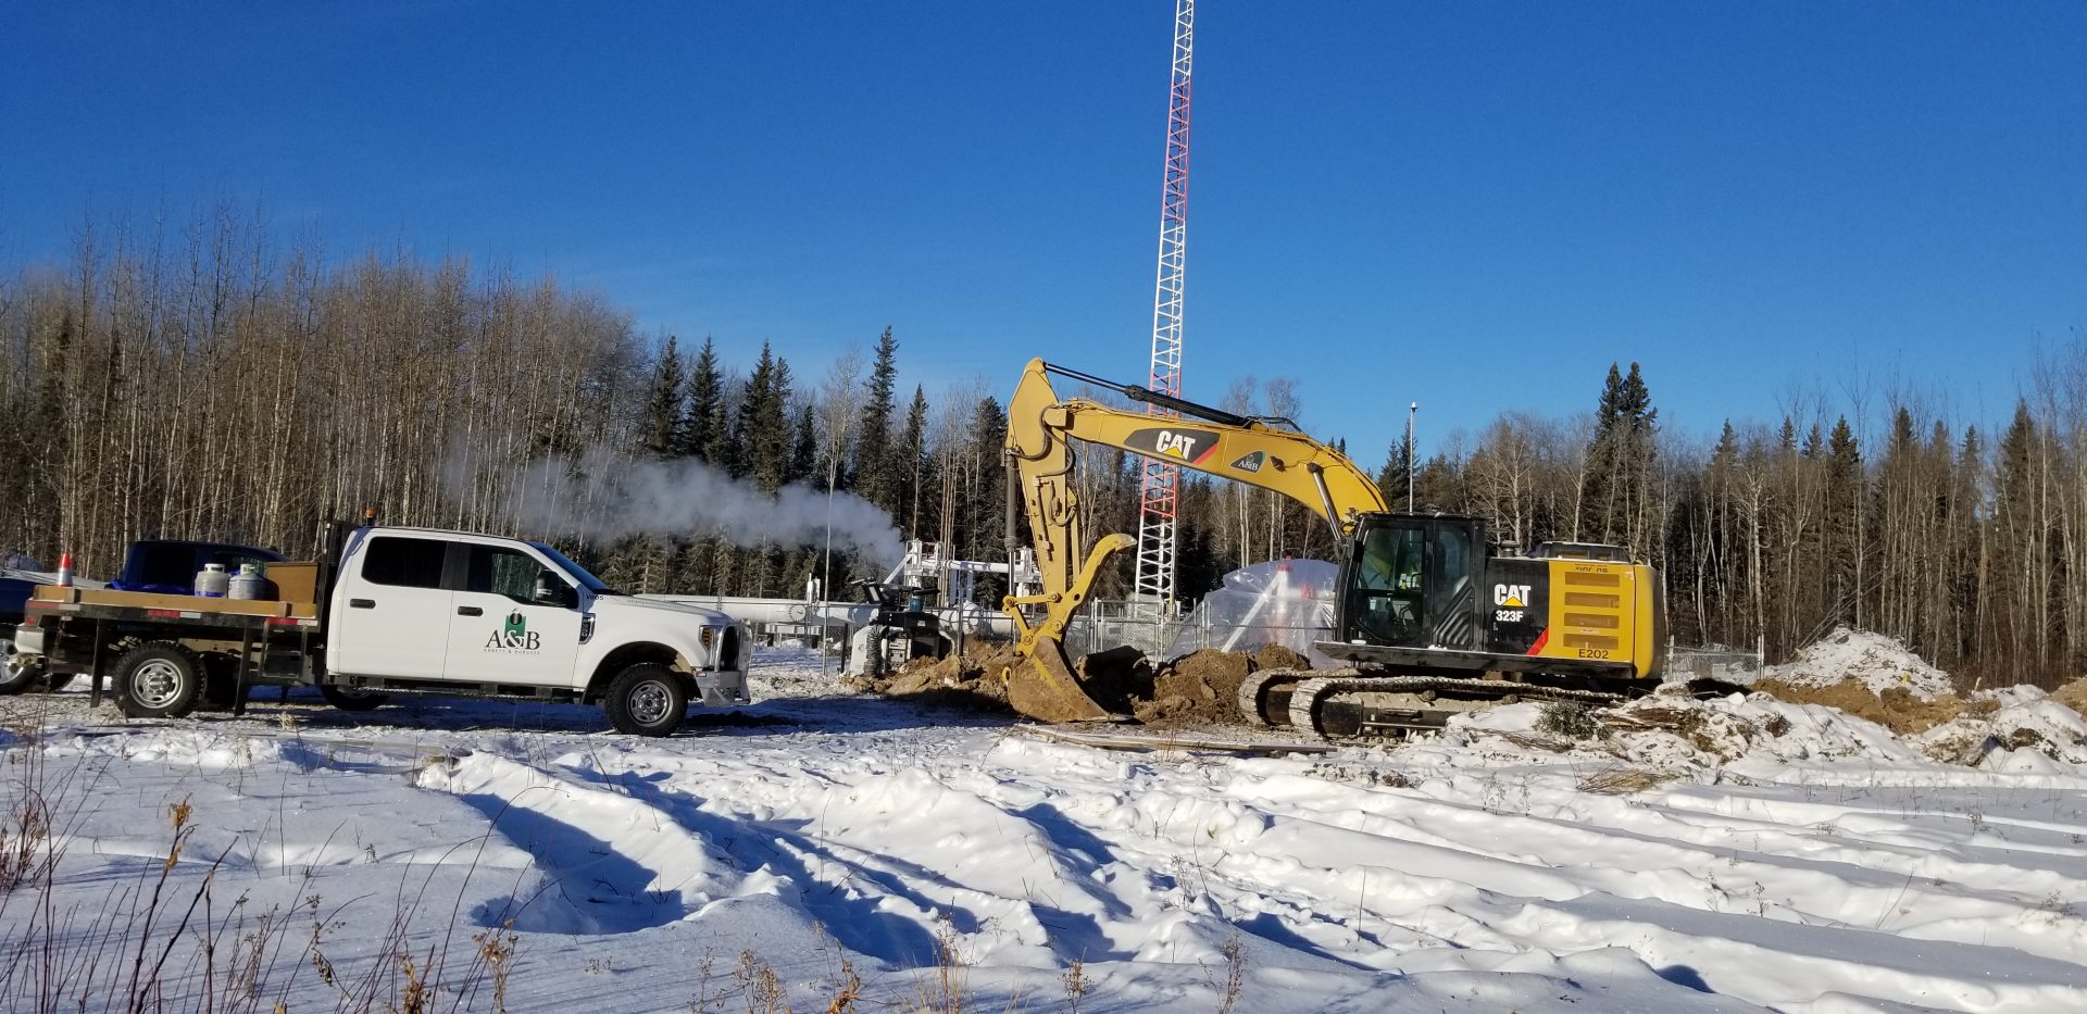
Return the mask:
<path fill-rule="evenodd" d="M 159 964 L 177 1010 L 403 1008 L 415 976 L 428 1010 L 591 1014 L 2087 1010 L 2087 726 L 2033 691 L 2001 709 L 2039 739 L 1976 766 L 1764 697 L 1640 701 L 1605 749 L 1515 705 L 1252 759 L 1048 743 L 789 651 L 755 701 L 670 741 L 557 705 L 0 701 L 4 799 L 38 787 L 65 845 L 0 893 L 0 1006 Z"/>

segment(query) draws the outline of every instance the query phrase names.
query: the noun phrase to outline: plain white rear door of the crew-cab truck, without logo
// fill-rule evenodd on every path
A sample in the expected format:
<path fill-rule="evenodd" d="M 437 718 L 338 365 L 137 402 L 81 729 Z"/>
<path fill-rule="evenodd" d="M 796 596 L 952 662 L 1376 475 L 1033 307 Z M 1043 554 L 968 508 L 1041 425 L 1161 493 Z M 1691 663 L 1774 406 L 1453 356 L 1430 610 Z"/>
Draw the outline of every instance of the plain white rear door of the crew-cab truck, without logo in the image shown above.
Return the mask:
<path fill-rule="evenodd" d="M 328 666 L 355 676 L 442 676 L 449 653 L 449 542 L 378 534 L 342 561 Z"/>

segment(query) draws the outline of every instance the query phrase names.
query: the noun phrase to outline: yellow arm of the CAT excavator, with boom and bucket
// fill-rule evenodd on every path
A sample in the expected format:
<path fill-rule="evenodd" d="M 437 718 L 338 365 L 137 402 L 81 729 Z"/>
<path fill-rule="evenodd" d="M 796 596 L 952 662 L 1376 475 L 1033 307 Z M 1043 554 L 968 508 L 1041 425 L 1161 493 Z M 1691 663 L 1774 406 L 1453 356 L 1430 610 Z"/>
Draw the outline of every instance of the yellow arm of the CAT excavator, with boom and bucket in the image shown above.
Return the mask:
<path fill-rule="evenodd" d="M 1087 399 L 1060 401 L 1050 384 L 1052 373 L 1177 411 L 1181 417 L 1127 411 Z M 1275 490 L 1319 511 L 1336 540 L 1354 530 L 1361 513 L 1386 509 L 1375 480 L 1346 455 L 1281 428 L 1277 419 L 1236 415 L 1031 359 L 1008 403 L 1008 457 L 1029 515 L 1044 593 L 1008 597 L 1004 609 L 1018 634 L 1018 661 L 1008 672 L 1008 703 L 1044 722 L 1114 718 L 1079 689 L 1062 638 L 1110 555 L 1137 545 L 1127 534 L 1110 534 L 1092 549 L 1085 545 L 1071 440 L 1114 446 Z M 1012 509 L 1008 522 L 1012 526 Z M 1025 609 L 1037 607 L 1041 620 L 1031 624 Z"/>

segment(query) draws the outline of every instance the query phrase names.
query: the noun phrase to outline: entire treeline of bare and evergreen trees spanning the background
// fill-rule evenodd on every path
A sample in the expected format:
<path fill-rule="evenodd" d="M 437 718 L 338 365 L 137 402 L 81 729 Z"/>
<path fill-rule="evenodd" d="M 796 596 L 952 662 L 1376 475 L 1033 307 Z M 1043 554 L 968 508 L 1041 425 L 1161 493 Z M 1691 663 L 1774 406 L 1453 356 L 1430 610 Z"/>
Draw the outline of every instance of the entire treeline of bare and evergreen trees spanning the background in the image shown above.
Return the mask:
<path fill-rule="evenodd" d="M 511 532 L 524 474 L 614 449 L 701 461 L 774 492 L 854 492 L 906 538 L 1004 555 L 995 390 L 899 380 L 887 328 L 803 371 L 768 344 L 641 338 L 626 313 L 555 280 L 465 261 L 323 257 L 230 213 L 175 236 L 81 230 L 61 265 L 0 275 L 0 551 L 106 574 L 140 536 L 315 551 L 319 524 Z M 1079 394 L 1066 390 L 1064 394 Z M 1288 380 L 1221 401 L 1300 417 Z M 1728 424 L 1713 442 L 1665 428 L 1632 365 L 1594 411 L 1507 413 L 1457 434 L 1413 476 L 1417 505 L 1478 513 L 1513 547 L 1622 542 L 1661 568 L 1678 643 L 1766 645 L 1774 659 L 1857 624 L 1993 680 L 2087 666 L 2087 336 L 2037 365 L 2008 426 L 1891 401 L 1866 446 L 1820 405 Z M 1377 474 L 1405 503 L 1405 449 Z M 1137 530 L 1137 467 L 1085 449 L 1089 532 Z M 1261 559 L 1338 549 L 1315 511 L 1244 486 L 1181 488 L 1183 597 Z M 801 595 L 822 547 L 662 532 L 559 540 L 630 590 Z M 1025 534 L 1018 534 L 1025 538 Z M 1129 557 L 1102 597 L 1129 590 Z M 829 593 L 881 563 L 833 559 Z M 995 590 L 985 588 L 989 599 Z"/>

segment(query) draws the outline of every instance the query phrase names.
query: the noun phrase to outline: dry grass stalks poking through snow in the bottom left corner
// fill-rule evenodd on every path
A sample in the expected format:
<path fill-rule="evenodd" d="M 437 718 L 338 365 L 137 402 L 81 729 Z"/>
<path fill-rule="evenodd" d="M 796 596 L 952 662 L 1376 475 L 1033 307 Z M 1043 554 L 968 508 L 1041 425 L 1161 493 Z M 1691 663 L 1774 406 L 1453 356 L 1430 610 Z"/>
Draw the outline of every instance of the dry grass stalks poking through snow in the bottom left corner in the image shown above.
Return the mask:
<path fill-rule="evenodd" d="M 449 933 L 428 947 L 409 945 L 407 928 L 426 883 L 401 883 L 390 933 L 376 941 L 374 953 L 357 941 L 359 974 L 344 972 L 326 953 L 342 928 L 342 910 L 328 912 L 309 891 L 313 870 L 298 883 L 292 897 L 303 901 L 294 906 L 257 912 L 244 893 L 225 903 L 221 872 L 238 839 L 215 855 L 190 855 L 209 814 L 188 799 L 167 807 L 159 862 L 140 864 L 131 876 L 117 872 L 100 899 L 61 899 L 65 843 L 77 837 L 86 807 L 94 805 L 106 762 L 54 772 L 35 728 L 17 730 L 4 762 L 0 1010 L 282 1012 L 301 985 L 313 985 L 303 979 L 307 970 L 332 993 L 330 1006 L 338 1012 L 501 1012 L 507 1006 L 520 937 L 505 928 L 484 931 L 472 937 L 474 947 L 459 947 L 461 960 L 451 956 L 476 860 L 459 887 L 457 910 L 449 912 Z"/>

